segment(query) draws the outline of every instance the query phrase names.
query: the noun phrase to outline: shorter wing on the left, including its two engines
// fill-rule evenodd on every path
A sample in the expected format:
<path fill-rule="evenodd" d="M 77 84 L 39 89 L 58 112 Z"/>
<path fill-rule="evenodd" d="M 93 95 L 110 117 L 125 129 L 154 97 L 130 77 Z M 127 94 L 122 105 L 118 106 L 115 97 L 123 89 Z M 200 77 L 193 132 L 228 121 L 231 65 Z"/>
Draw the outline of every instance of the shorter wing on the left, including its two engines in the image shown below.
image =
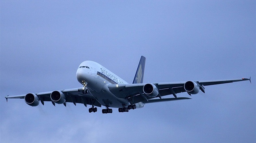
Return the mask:
<path fill-rule="evenodd" d="M 6 100 L 8 99 L 25 99 L 26 103 L 31 106 L 37 106 L 39 101 L 44 105 L 44 101 L 51 101 L 52 104 L 55 106 L 55 103 L 64 104 L 66 106 L 66 102 L 71 102 L 76 105 L 76 103 L 82 103 L 85 106 L 87 104 L 94 105 L 101 107 L 101 104 L 95 100 L 95 98 L 91 95 L 91 90 L 87 89 L 88 93 L 83 94 L 82 88 L 72 88 L 72 89 L 65 89 L 65 90 L 56 90 L 50 92 L 43 92 L 43 93 L 28 93 L 26 95 L 14 95 L 14 96 L 6 96 Z M 53 102 L 50 95 L 52 93 L 56 94 L 56 102 Z M 63 96 L 65 95 L 65 96 Z M 64 99 L 64 100 L 63 100 Z M 28 102 L 27 102 L 28 101 Z"/>

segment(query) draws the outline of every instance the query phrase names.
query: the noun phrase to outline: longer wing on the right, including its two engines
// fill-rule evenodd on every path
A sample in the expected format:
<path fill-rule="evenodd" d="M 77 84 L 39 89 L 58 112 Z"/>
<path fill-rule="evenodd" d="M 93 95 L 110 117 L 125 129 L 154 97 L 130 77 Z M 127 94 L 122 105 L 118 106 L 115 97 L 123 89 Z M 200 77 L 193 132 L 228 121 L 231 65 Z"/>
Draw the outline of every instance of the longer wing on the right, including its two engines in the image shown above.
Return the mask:
<path fill-rule="evenodd" d="M 204 81 L 187 81 L 187 82 L 161 82 L 161 83 L 141 83 L 141 84 L 110 84 L 108 85 L 109 90 L 115 96 L 119 98 L 126 98 L 130 103 L 135 104 L 139 102 L 152 103 L 161 101 L 172 101 L 162 99 L 165 95 L 173 95 L 176 100 L 177 93 L 187 92 L 189 95 L 197 94 L 199 90 L 205 93 L 204 86 L 224 84 L 231 82 L 239 82 L 249 80 L 251 78 L 238 78 L 228 80 L 204 80 Z M 159 97 L 161 100 L 153 99 Z M 182 98 L 188 99 L 188 98 Z"/>

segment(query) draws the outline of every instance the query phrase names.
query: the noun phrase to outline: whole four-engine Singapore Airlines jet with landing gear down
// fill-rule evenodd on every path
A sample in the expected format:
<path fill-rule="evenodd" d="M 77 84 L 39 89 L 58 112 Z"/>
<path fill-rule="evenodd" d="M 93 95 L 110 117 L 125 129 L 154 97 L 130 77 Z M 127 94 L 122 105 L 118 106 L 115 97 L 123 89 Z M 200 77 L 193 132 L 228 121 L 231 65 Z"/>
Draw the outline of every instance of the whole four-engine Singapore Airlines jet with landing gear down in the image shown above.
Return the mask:
<path fill-rule="evenodd" d="M 96 112 L 97 107 L 105 106 L 102 113 L 112 113 L 111 108 L 118 108 L 119 112 L 128 112 L 130 109 L 144 107 L 146 103 L 191 99 L 177 97 L 177 93 L 187 92 L 189 95 L 197 94 L 201 90 L 205 93 L 204 86 L 239 82 L 251 78 L 230 80 L 205 80 L 187 82 L 143 83 L 145 57 L 141 56 L 135 78 L 132 84 L 121 79 L 102 65 L 93 61 L 82 62 L 77 71 L 76 78 L 82 84 L 80 88 L 55 90 L 43 93 L 28 93 L 26 95 L 6 96 L 8 99 L 25 99 L 30 106 L 39 105 L 40 101 L 51 101 L 55 106 L 67 102 L 82 103 L 86 107 L 91 105 L 89 112 Z M 173 98 L 162 98 L 173 95 Z M 95 107 L 97 106 L 97 107 Z"/>

